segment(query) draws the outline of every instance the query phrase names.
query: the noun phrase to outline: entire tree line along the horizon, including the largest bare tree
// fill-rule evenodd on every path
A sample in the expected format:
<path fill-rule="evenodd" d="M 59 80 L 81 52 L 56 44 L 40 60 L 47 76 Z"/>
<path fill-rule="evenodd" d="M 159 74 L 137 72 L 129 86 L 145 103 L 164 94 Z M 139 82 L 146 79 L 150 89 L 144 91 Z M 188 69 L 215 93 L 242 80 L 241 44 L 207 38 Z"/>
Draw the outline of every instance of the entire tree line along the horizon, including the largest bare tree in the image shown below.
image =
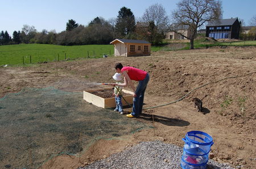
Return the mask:
<path fill-rule="evenodd" d="M 63 32 L 36 31 L 34 26 L 24 25 L 22 31 L 14 31 L 13 38 L 7 31 L 0 33 L 0 44 L 39 43 L 56 45 L 109 44 L 121 39 L 138 39 L 149 41 L 152 45 L 162 43 L 164 32 L 176 32 L 190 40 L 191 49 L 197 29 L 205 24 L 222 19 L 220 0 L 180 0 L 177 9 L 167 16 L 164 7 L 158 3 L 149 6 L 143 15 L 135 20 L 131 9 L 122 7 L 116 18 L 105 20 L 94 18 L 88 25 L 76 23 L 70 19 Z M 255 16 L 252 19 L 254 22 Z M 181 28 L 188 27 L 191 32 L 185 36 Z"/>

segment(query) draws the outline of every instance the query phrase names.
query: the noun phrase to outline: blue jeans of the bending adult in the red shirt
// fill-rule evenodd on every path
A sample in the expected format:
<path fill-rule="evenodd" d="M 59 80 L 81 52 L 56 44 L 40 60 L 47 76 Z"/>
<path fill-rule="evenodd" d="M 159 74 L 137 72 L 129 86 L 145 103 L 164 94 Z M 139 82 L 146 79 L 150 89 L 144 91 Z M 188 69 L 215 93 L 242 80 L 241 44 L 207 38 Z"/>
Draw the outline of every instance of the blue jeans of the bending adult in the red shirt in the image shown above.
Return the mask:
<path fill-rule="evenodd" d="M 142 106 L 143 106 L 143 100 L 144 100 L 144 93 L 147 88 L 147 83 L 150 79 L 149 74 L 147 73 L 146 77 L 139 81 L 139 84 L 136 88 L 135 94 L 137 95 L 135 98 L 133 98 L 133 112 L 131 115 L 133 116 L 139 116 L 142 113 Z"/>

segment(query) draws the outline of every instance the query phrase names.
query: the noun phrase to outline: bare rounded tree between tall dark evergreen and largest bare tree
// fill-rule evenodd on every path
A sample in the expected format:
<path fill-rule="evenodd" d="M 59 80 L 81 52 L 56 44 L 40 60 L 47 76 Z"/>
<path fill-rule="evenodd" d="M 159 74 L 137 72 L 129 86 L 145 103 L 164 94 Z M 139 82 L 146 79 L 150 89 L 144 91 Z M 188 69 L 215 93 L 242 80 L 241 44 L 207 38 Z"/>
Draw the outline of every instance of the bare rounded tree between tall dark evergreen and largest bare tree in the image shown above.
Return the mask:
<path fill-rule="evenodd" d="M 166 10 L 161 4 L 154 4 L 148 7 L 141 17 L 141 22 L 144 23 L 154 23 L 156 30 L 158 32 L 163 31 L 164 26 L 166 26 L 168 16 L 166 15 Z"/>

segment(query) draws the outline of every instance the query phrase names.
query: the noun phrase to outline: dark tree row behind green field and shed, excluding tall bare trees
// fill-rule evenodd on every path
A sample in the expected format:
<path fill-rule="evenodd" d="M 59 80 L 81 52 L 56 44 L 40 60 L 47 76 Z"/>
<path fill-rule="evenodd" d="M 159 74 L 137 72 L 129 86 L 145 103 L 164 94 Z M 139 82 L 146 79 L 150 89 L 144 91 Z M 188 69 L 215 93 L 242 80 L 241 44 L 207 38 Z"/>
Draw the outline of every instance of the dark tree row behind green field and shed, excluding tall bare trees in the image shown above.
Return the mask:
<path fill-rule="evenodd" d="M 162 5 L 157 5 L 162 7 Z M 163 7 L 162 7 L 163 9 Z M 164 15 L 166 15 L 164 11 Z M 164 33 L 157 31 L 154 22 L 148 22 L 150 28 L 143 26 L 143 31 L 138 28 L 139 22 L 135 23 L 133 12 L 127 7 L 122 7 L 117 18 L 105 20 L 102 17 L 94 18 L 87 26 L 76 23 L 70 19 L 66 24 L 65 31 L 56 33 L 43 29 L 36 31 L 34 26 L 25 24 L 21 31 L 14 31 L 13 37 L 7 31 L 0 33 L 0 44 L 56 44 L 56 45 L 88 45 L 109 44 L 116 38 L 143 39 L 155 44 L 164 39 Z M 154 37 L 153 37 L 154 36 Z M 157 40 L 159 39 L 159 40 Z"/>

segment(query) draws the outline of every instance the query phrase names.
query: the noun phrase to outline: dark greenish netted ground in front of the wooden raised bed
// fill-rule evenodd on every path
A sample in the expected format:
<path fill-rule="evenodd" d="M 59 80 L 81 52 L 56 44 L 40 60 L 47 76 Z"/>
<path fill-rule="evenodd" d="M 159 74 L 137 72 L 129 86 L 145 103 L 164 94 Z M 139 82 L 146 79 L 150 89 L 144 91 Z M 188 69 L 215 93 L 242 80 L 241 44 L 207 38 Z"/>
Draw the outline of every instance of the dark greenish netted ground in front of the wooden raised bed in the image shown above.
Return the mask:
<path fill-rule="evenodd" d="M 146 127 L 82 99 L 82 92 L 24 88 L 0 99 L 0 168 L 38 168 L 58 154 L 81 153 L 100 138 Z"/>

